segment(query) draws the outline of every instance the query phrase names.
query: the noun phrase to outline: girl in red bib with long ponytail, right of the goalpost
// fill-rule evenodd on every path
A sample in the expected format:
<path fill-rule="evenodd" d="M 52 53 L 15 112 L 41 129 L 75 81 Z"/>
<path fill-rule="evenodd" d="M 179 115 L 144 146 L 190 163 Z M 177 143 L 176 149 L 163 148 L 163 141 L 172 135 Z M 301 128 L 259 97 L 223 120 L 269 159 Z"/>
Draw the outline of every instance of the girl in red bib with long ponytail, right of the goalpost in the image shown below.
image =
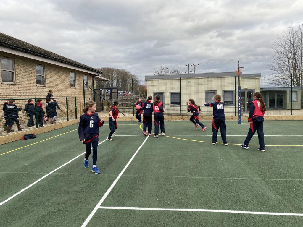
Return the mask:
<path fill-rule="evenodd" d="M 249 149 L 248 143 L 251 140 L 252 136 L 257 131 L 259 145 L 260 145 L 258 150 L 265 151 L 263 122 L 264 122 L 264 113 L 266 111 L 266 106 L 260 92 L 255 92 L 253 98 L 254 101 L 251 102 L 248 120 L 247 120 L 250 123 L 250 128 L 247 137 L 244 143 L 241 145 L 241 147 L 244 149 Z"/>

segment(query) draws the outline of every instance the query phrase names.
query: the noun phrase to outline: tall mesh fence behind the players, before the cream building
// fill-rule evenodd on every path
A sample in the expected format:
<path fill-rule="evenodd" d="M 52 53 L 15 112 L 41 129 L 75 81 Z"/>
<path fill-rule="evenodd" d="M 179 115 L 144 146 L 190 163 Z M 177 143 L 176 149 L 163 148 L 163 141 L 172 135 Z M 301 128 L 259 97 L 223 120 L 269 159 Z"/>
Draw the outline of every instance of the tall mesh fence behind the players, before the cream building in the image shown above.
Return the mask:
<path fill-rule="evenodd" d="M 102 84 L 99 84 L 99 88 L 106 89 Z M 225 103 L 226 116 L 248 115 L 253 94 L 257 91 L 261 92 L 267 107 L 265 115 L 303 115 L 302 81 L 296 81 L 291 75 L 286 78 L 242 72 L 239 77 L 237 72 L 151 75 L 145 76 L 145 79 L 136 79 L 133 83 L 128 81 L 119 84 L 117 90 L 118 98 L 108 101 L 113 103 L 114 100 L 118 100 L 119 110 L 126 116 L 133 116 L 136 113 L 135 103 L 138 97 L 142 97 L 144 102 L 148 95 L 155 99 L 157 94 L 164 104 L 165 115 L 190 115 L 187 108 L 188 100 L 192 98 L 201 107 L 202 115 L 211 116 L 212 108 L 204 106 L 204 103 L 214 102 L 212 97 L 215 94 L 221 95 Z M 123 94 L 127 92 L 133 94 Z M 104 108 L 100 109 L 101 114 L 102 111 L 107 114 L 110 106 L 104 104 Z"/>

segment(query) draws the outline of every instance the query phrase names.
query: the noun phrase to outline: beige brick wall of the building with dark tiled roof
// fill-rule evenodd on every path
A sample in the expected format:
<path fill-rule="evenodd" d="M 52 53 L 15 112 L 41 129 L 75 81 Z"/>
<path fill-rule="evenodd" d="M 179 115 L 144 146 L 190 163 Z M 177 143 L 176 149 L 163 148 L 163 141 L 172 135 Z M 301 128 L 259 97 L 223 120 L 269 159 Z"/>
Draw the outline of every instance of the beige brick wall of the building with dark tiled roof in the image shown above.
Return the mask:
<path fill-rule="evenodd" d="M 54 97 L 76 96 L 78 109 L 77 112 L 80 113 L 79 103 L 83 103 L 83 75 L 88 76 L 88 86 L 92 87 L 91 75 L 82 71 L 75 71 L 66 67 L 45 63 L 2 51 L 0 51 L 0 57 L 8 57 L 14 60 L 16 83 L 5 84 L 1 82 L 0 99 L 46 97 L 48 91 L 53 90 Z M 41 64 L 45 67 L 45 86 L 36 85 L 36 64 Z M 70 87 L 70 72 L 75 72 L 76 88 Z M 92 92 L 90 89 L 85 89 L 85 100 L 92 100 Z M 43 102 L 45 103 L 45 101 Z M 1 103 L 4 103 L 4 101 L 1 101 Z"/>

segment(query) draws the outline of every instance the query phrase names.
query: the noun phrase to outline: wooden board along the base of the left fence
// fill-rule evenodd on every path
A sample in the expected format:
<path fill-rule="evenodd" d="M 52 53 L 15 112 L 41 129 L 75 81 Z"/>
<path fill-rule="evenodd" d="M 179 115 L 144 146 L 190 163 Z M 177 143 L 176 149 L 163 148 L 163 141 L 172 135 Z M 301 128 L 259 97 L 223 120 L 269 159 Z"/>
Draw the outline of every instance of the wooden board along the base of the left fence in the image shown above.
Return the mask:
<path fill-rule="evenodd" d="M 55 129 L 63 128 L 63 127 L 70 126 L 73 124 L 78 124 L 78 123 L 79 123 L 79 120 L 75 119 L 75 120 L 65 121 L 65 122 L 61 122 L 61 123 L 55 123 L 53 125 L 48 125 L 48 126 L 45 126 L 42 128 L 35 128 L 35 129 L 31 129 L 31 130 L 26 130 L 26 131 L 20 131 L 18 133 L 0 137 L 0 145 L 9 143 L 9 142 L 12 142 L 15 140 L 21 140 L 21 138 L 25 134 L 34 133 L 35 135 L 38 135 L 41 133 L 49 132 L 49 131 L 52 131 Z"/>

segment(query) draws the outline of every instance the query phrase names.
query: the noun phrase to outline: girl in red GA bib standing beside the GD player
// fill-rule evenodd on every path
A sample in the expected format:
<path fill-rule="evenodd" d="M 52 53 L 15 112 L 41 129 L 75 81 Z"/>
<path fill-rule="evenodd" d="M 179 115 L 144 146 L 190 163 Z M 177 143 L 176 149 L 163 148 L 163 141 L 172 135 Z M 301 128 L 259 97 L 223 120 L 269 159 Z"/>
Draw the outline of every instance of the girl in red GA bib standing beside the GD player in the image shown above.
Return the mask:
<path fill-rule="evenodd" d="M 162 136 L 165 136 L 165 129 L 164 129 L 164 109 L 163 109 L 163 103 L 161 103 L 160 101 L 160 95 L 156 95 L 155 97 L 155 101 L 154 101 L 154 105 L 153 105 L 153 110 L 155 113 L 155 138 L 158 138 L 158 133 L 159 133 L 159 125 L 160 125 L 160 129 L 161 129 L 161 133 Z"/>

